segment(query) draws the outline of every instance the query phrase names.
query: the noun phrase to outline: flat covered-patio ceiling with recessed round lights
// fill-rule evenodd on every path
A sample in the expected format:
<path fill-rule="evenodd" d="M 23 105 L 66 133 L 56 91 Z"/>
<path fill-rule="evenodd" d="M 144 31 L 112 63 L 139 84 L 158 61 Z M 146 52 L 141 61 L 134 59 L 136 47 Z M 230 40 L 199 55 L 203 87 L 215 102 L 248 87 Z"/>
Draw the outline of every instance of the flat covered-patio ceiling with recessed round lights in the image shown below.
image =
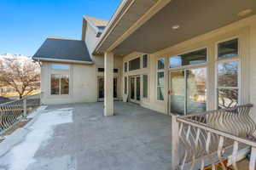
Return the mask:
<path fill-rule="evenodd" d="M 253 12 L 243 17 L 237 15 L 248 8 Z M 255 12 L 255 0 L 172 0 L 119 44 L 116 43 L 112 50 L 115 54 L 130 54 L 133 51 L 154 53 L 244 19 Z M 122 22 L 130 23 L 131 18 L 123 18 Z M 179 29 L 173 30 L 172 26 L 179 26 Z M 111 45 L 113 47 L 113 43 Z"/>

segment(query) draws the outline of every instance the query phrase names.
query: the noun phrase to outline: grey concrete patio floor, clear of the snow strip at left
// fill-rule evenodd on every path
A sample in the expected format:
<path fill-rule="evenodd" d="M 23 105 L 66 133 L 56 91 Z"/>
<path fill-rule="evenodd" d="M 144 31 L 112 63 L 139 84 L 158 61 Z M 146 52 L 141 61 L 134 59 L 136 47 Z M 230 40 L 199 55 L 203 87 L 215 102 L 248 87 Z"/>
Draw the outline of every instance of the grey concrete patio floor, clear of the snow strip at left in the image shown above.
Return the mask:
<path fill-rule="evenodd" d="M 73 108 L 73 122 L 55 126 L 28 170 L 171 169 L 171 116 L 123 102 L 114 102 L 110 117 L 102 116 L 103 103 L 47 111 L 60 108 Z"/>

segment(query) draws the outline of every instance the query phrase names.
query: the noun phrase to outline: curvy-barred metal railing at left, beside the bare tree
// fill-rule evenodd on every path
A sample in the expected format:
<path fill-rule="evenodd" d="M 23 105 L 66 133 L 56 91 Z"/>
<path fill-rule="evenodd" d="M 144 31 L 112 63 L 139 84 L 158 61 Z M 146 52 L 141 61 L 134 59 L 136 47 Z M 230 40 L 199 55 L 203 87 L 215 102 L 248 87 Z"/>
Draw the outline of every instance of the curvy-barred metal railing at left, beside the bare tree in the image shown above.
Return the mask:
<path fill-rule="evenodd" d="M 0 134 L 16 122 L 26 119 L 26 115 L 40 105 L 41 94 L 26 96 L 0 105 Z"/>

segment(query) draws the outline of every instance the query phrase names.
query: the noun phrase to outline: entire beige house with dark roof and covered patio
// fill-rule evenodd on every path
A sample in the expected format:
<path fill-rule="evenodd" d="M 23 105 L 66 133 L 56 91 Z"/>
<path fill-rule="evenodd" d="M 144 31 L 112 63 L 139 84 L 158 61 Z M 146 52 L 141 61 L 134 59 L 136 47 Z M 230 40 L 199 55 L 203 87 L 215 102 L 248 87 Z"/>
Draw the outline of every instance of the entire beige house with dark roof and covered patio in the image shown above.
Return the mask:
<path fill-rule="evenodd" d="M 186 115 L 255 105 L 255 55 L 254 0 L 123 0 L 109 21 L 84 16 L 81 40 L 49 37 L 33 59 L 46 105 L 104 100 L 112 116 L 118 99 Z"/>

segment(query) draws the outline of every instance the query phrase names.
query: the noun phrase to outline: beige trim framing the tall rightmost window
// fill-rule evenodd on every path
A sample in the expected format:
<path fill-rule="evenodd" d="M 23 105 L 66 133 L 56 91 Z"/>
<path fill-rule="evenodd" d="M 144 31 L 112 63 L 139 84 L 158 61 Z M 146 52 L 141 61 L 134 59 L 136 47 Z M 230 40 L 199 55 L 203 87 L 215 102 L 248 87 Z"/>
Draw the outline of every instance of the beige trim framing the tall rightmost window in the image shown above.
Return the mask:
<path fill-rule="evenodd" d="M 218 59 L 218 43 L 221 42 L 228 42 L 231 40 L 237 39 L 238 41 L 238 54 L 237 56 L 234 57 L 228 57 L 224 59 Z M 236 36 L 236 37 L 229 37 L 225 38 L 221 41 L 215 42 L 214 44 L 214 52 L 215 52 L 215 60 L 214 60 L 214 81 L 215 81 L 215 88 L 214 88 L 214 97 L 215 97 L 215 109 L 218 110 L 218 89 L 237 89 L 238 90 L 238 97 L 237 97 L 237 103 L 238 105 L 241 104 L 241 38 Z M 238 66 L 237 66 L 237 87 L 218 87 L 218 64 L 219 63 L 227 63 L 227 62 L 232 62 L 232 61 L 237 61 Z"/>

